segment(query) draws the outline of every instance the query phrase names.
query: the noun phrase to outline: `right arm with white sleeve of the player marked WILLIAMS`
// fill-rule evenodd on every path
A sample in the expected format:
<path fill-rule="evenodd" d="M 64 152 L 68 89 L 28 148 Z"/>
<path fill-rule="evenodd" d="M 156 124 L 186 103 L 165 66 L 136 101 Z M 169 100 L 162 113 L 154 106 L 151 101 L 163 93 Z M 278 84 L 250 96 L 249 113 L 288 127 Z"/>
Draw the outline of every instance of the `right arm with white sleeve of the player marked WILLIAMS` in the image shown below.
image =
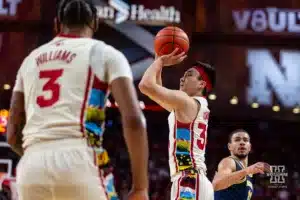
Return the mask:
<path fill-rule="evenodd" d="M 103 54 L 102 49 L 100 53 Z M 146 120 L 139 106 L 132 72 L 121 52 L 107 47 L 104 56 L 107 82 L 121 113 L 123 134 L 131 162 L 133 190 L 146 194 L 149 158 Z"/>

